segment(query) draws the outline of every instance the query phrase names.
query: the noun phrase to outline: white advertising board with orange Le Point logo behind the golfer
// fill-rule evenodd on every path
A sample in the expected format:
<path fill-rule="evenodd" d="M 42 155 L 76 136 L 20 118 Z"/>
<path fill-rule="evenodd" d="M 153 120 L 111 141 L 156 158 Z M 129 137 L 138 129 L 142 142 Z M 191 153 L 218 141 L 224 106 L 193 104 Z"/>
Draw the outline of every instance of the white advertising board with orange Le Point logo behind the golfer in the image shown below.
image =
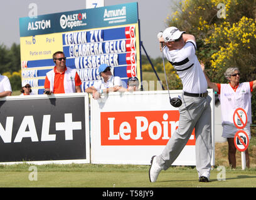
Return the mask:
<path fill-rule="evenodd" d="M 214 95 L 211 101 L 211 127 L 214 133 Z M 171 97 L 182 95 L 170 91 Z M 150 164 L 178 128 L 179 111 L 169 103 L 168 91 L 110 93 L 99 100 L 90 97 L 91 163 Z M 214 136 L 213 156 L 214 165 Z M 173 165 L 195 166 L 195 133 Z"/>

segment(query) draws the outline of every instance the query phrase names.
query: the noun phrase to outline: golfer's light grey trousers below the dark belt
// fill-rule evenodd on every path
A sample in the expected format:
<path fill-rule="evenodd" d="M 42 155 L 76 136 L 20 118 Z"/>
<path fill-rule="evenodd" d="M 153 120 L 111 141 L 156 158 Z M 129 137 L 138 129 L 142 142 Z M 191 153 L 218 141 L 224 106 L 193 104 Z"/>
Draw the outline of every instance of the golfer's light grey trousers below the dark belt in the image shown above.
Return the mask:
<path fill-rule="evenodd" d="M 196 170 L 198 176 L 210 179 L 211 170 L 211 97 L 182 96 L 179 107 L 179 126 L 169 139 L 163 153 L 157 156 L 159 166 L 166 170 L 176 160 L 188 142 L 193 129 L 196 136 Z"/>

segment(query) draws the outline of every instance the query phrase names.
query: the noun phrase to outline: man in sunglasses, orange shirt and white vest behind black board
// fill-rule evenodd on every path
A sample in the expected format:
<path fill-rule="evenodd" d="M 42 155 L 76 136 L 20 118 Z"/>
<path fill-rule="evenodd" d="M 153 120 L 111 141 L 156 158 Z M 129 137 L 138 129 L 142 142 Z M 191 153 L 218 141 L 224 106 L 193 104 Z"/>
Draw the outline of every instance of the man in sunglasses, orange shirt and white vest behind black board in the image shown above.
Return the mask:
<path fill-rule="evenodd" d="M 53 54 L 54 69 L 46 73 L 44 94 L 81 93 L 81 80 L 75 69 L 66 66 L 62 51 Z"/>

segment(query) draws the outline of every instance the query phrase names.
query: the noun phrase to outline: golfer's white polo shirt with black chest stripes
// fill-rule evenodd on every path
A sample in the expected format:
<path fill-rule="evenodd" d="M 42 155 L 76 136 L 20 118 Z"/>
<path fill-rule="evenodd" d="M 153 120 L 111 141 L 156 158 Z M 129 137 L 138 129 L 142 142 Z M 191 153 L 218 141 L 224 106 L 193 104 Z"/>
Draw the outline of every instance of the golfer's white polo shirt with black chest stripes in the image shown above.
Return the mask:
<path fill-rule="evenodd" d="M 201 65 L 196 57 L 196 42 L 186 41 L 181 49 L 169 51 L 164 46 L 164 55 L 176 69 L 179 78 L 183 84 L 183 91 L 187 93 L 205 93 L 207 90 L 207 81 Z"/>

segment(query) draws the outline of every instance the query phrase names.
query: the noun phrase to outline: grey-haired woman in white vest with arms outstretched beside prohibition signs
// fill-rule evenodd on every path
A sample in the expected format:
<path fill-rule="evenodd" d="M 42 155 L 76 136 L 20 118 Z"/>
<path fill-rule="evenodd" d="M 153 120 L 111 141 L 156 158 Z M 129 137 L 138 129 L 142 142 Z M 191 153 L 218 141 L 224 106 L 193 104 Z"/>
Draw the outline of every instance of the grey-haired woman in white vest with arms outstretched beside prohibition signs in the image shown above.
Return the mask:
<path fill-rule="evenodd" d="M 201 68 L 205 72 L 205 65 L 201 63 Z M 252 123 L 252 106 L 251 96 L 253 89 L 256 88 L 256 80 L 250 82 L 239 83 L 240 72 L 238 68 L 228 68 L 224 73 L 225 78 L 228 79 L 228 84 L 212 83 L 205 73 L 205 78 L 208 83 L 208 87 L 214 89 L 218 93 L 221 105 L 221 120 L 222 120 L 222 137 L 227 138 L 228 141 L 228 161 L 231 168 L 236 168 L 234 137 L 238 129 L 233 124 L 233 113 L 237 108 L 243 108 L 248 117 L 247 126 L 243 130 L 250 134 L 250 124 Z M 250 168 L 250 158 L 248 149 L 245 151 L 246 166 Z"/>

